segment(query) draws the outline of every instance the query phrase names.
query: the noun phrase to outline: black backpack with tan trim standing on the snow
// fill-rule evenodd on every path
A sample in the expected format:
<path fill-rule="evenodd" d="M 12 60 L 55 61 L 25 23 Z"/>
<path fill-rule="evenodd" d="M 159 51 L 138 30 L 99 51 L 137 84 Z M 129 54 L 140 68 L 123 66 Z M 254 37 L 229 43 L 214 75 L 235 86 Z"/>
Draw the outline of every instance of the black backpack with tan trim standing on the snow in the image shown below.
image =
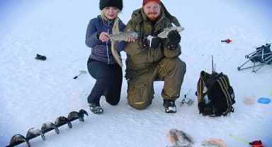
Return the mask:
<path fill-rule="evenodd" d="M 204 85 L 208 91 L 203 93 Z M 232 86 L 229 84 L 229 78 L 223 73 L 200 72 L 196 95 L 198 96 L 198 110 L 203 115 L 210 117 L 226 116 L 234 112 L 232 105 L 235 103 L 235 95 Z M 208 95 L 210 102 L 204 103 L 203 98 Z"/>

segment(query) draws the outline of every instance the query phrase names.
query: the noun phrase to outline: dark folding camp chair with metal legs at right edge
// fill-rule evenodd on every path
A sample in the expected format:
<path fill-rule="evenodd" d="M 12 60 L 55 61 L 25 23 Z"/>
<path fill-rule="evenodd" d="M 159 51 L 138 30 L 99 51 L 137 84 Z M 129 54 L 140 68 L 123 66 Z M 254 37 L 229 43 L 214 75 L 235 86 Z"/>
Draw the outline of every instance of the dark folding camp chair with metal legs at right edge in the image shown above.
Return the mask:
<path fill-rule="evenodd" d="M 246 62 L 244 62 L 244 64 L 242 64 L 241 66 L 237 67 L 238 71 L 243 70 L 243 69 L 253 68 L 252 72 L 256 73 L 257 71 L 259 71 L 259 69 L 261 69 L 266 64 L 271 64 L 272 63 L 272 52 L 271 52 L 270 47 L 271 47 L 271 43 L 270 44 L 266 43 L 266 45 L 263 45 L 261 47 L 257 47 L 255 52 L 251 52 L 250 54 L 246 54 L 245 58 L 248 60 Z M 249 61 L 252 61 L 253 65 L 243 67 Z M 259 62 L 259 64 L 256 64 L 256 62 Z M 255 69 L 257 66 L 258 66 L 258 68 Z"/>

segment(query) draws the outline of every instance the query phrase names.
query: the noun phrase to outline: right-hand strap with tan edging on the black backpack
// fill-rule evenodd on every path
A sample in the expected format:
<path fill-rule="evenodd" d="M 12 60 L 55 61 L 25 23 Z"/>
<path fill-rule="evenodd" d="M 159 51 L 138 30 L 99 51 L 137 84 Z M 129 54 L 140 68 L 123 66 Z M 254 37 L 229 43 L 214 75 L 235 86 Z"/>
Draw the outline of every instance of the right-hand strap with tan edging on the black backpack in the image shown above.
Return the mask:
<path fill-rule="evenodd" d="M 221 76 L 220 78 L 217 79 L 217 83 L 220 85 L 220 88 L 222 89 L 222 92 L 225 95 L 226 102 L 227 102 L 227 110 L 225 112 L 222 112 L 224 116 L 227 115 L 229 112 L 233 112 L 234 109 L 232 107 L 232 100 L 231 96 L 229 95 L 229 79 L 227 78 L 226 75 Z"/>

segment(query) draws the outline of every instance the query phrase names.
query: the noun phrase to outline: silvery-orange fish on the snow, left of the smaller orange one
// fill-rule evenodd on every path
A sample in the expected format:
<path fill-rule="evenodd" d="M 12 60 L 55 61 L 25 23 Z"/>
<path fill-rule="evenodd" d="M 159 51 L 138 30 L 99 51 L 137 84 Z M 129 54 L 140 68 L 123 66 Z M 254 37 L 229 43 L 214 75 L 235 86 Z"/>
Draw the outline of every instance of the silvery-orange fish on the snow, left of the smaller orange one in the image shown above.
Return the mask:
<path fill-rule="evenodd" d="M 171 129 L 167 136 L 174 146 L 191 147 L 191 144 L 193 144 L 193 138 L 189 134 L 178 129 Z"/>

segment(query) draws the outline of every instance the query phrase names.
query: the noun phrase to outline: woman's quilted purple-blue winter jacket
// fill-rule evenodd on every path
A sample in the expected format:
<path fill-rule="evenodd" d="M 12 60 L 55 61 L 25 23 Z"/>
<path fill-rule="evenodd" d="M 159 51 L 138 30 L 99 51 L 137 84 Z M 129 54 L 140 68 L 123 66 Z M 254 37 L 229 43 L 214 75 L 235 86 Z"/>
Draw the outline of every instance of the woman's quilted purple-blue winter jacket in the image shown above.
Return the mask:
<path fill-rule="evenodd" d="M 97 16 L 90 20 L 87 31 L 85 43 L 88 47 L 91 47 L 91 59 L 96 61 L 103 61 L 106 64 L 115 64 L 113 54 L 111 53 L 111 40 L 102 42 L 96 35 L 97 33 L 106 32 L 112 34 L 114 20 L 102 20 L 101 16 Z M 119 31 L 125 30 L 125 24 L 119 19 Z M 124 50 L 125 42 L 116 42 L 115 49 L 119 56 L 120 52 Z"/>

